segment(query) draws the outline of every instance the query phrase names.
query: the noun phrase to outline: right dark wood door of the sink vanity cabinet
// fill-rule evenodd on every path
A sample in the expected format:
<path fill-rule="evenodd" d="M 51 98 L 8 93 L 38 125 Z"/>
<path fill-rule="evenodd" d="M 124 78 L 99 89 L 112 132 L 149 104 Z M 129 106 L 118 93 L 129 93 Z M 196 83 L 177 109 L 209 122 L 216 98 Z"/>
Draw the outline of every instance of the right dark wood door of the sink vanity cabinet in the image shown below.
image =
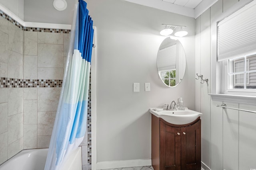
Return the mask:
<path fill-rule="evenodd" d="M 181 169 L 201 170 L 201 120 L 181 128 Z"/>

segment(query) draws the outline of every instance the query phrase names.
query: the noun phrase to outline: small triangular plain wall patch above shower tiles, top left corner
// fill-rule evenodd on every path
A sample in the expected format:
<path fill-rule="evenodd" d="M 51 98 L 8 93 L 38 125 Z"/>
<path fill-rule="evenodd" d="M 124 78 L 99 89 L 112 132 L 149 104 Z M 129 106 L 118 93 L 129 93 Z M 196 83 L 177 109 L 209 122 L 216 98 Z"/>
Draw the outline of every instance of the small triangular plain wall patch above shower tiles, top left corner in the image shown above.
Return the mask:
<path fill-rule="evenodd" d="M 24 20 L 24 0 L 0 0 L 0 4 Z"/>

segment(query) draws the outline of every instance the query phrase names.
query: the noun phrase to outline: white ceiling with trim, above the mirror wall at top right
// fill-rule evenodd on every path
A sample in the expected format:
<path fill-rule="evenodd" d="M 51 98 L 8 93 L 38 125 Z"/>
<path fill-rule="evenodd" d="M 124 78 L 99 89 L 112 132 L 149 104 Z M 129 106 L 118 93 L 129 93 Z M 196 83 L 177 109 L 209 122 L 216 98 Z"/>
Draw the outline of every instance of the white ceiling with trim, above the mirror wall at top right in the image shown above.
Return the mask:
<path fill-rule="evenodd" d="M 197 18 L 218 0 L 125 0 L 128 2 Z"/>

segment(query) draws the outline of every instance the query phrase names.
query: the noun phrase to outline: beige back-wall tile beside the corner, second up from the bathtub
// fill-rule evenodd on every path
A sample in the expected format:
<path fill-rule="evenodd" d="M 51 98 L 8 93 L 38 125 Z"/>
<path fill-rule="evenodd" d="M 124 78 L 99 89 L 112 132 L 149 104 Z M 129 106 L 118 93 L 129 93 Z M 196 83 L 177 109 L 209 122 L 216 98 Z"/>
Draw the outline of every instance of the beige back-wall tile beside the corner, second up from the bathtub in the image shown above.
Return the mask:
<path fill-rule="evenodd" d="M 37 123 L 37 100 L 24 100 L 24 125 Z"/>

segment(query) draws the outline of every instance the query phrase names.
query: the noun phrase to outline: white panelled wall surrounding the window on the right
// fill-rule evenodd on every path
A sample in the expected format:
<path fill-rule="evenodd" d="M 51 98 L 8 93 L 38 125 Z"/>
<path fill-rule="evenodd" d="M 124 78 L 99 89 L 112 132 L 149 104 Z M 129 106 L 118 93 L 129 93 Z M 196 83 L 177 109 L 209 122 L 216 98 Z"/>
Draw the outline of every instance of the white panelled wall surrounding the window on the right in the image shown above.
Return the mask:
<path fill-rule="evenodd" d="M 202 116 L 202 162 L 212 170 L 246 170 L 256 167 L 256 115 L 222 109 L 216 104 L 256 110 L 256 106 L 212 101 L 208 93 L 219 91 L 216 83 L 216 21 L 250 0 L 219 0 L 196 18 L 196 73 L 209 78 L 208 84 L 196 80 L 196 110 Z M 217 74 L 218 75 L 218 74 Z M 217 76 L 217 78 L 219 78 Z M 217 84 L 217 85 L 216 85 Z M 205 169 L 207 167 L 204 167 Z"/>

